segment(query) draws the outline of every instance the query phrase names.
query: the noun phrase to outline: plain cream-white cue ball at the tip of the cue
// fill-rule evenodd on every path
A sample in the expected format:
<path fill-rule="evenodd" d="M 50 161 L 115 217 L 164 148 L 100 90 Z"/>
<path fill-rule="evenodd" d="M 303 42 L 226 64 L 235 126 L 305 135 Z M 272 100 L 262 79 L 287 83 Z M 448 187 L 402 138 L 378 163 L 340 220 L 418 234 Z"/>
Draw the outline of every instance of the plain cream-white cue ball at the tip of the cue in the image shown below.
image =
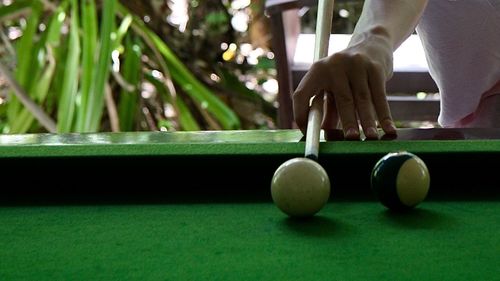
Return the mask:
<path fill-rule="evenodd" d="M 271 196 L 276 206 L 291 217 L 313 216 L 330 197 L 330 179 L 316 161 L 293 158 L 274 173 Z"/>

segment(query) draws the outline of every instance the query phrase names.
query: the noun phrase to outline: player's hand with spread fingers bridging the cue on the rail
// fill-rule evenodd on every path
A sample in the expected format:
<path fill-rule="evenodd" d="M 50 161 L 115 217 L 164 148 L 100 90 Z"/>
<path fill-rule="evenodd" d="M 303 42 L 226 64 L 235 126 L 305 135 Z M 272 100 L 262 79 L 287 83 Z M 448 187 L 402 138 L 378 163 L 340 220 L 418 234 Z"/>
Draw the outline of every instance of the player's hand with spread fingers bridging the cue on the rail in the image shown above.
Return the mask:
<path fill-rule="evenodd" d="M 392 76 L 393 51 L 386 38 L 366 35 L 345 50 L 315 62 L 293 94 L 297 126 L 306 132 L 309 101 L 326 93 L 322 127 L 341 123 L 347 139 L 359 139 L 359 125 L 368 139 L 378 138 L 377 121 L 386 134 L 395 134 L 385 93 Z"/>

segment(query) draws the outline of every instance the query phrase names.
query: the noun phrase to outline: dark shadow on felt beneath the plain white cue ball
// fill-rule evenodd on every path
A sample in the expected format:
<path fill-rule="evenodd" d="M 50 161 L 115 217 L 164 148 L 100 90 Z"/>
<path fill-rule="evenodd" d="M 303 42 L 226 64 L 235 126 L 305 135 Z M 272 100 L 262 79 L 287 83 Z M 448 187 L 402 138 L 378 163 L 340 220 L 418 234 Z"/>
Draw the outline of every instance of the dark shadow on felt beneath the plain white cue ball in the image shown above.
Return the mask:
<path fill-rule="evenodd" d="M 305 218 L 287 217 L 281 223 L 287 230 L 304 236 L 348 236 L 347 225 L 320 215 Z"/>

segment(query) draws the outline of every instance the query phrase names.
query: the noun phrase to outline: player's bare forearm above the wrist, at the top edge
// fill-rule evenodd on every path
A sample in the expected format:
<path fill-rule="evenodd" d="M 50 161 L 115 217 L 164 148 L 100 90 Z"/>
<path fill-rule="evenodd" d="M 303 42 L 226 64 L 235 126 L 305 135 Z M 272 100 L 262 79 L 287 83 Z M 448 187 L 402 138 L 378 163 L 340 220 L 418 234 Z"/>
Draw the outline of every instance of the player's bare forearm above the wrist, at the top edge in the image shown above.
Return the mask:
<path fill-rule="evenodd" d="M 366 0 L 350 46 L 367 36 L 385 38 L 396 50 L 414 31 L 428 0 Z"/>

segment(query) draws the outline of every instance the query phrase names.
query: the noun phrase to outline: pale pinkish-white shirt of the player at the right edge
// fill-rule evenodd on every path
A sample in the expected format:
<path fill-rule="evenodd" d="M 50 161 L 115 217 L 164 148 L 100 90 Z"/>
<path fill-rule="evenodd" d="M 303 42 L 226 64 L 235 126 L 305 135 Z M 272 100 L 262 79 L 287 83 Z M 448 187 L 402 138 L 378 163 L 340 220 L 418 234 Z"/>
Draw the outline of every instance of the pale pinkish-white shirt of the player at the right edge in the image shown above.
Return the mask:
<path fill-rule="evenodd" d="M 500 80 L 500 0 L 429 0 L 417 33 L 441 94 L 438 121 L 452 126 Z"/>

